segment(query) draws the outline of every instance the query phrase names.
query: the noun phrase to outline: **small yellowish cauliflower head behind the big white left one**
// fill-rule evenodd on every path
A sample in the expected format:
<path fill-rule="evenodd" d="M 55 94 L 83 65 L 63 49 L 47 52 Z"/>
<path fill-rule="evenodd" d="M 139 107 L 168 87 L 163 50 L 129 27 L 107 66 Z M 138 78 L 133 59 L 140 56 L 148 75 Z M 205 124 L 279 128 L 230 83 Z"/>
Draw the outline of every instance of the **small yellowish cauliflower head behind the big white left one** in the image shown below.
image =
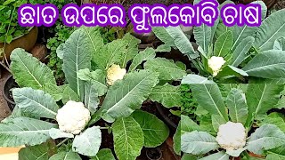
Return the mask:
<path fill-rule="evenodd" d="M 126 69 L 114 64 L 107 70 L 107 83 L 113 85 L 118 79 L 123 79 L 125 75 Z"/>

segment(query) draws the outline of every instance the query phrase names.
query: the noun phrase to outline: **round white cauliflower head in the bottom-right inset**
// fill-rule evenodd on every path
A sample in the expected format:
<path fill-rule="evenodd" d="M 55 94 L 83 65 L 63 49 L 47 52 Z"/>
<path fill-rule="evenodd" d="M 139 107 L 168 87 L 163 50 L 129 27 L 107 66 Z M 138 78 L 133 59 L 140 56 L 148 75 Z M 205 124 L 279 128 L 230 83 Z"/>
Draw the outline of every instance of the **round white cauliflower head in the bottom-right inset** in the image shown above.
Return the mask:
<path fill-rule="evenodd" d="M 227 150 L 236 150 L 246 145 L 246 129 L 240 123 L 227 122 L 219 127 L 216 141 L 221 148 Z"/>

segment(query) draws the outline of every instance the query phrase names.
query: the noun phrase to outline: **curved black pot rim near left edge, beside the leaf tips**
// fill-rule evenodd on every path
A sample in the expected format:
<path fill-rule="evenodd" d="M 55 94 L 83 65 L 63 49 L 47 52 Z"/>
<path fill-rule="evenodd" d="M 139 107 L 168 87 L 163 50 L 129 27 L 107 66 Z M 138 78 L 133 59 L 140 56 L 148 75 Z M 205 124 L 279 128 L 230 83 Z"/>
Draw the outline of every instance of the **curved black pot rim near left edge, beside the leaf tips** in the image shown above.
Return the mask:
<path fill-rule="evenodd" d="M 16 103 L 14 102 L 14 100 L 12 100 L 11 89 L 16 88 L 16 87 L 19 87 L 19 86 L 13 79 L 12 75 L 8 76 L 7 79 L 4 81 L 2 93 L 3 93 L 4 100 L 6 100 L 7 105 L 11 109 L 11 111 L 16 106 Z"/>

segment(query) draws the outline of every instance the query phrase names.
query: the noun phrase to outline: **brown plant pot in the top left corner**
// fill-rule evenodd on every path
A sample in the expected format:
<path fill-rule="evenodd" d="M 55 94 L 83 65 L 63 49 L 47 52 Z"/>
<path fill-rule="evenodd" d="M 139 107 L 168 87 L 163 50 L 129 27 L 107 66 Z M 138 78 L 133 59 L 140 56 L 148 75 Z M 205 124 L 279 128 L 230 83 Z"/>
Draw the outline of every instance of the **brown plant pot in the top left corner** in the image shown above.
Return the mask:
<path fill-rule="evenodd" d="M 27 35 L 17 36 L 12 39 L 12 42 L 10 44 L 5 44 L 5 56 L 7 60 L 10 60 L 11 52 L 15 48 L 22 48 L 26 50 L 27 52 L 30 52 L 34 45 L 37 42 L 37 34 L 38 34 L 38 28 L 29 28 Z M 4 47 L 4 43 L 0 43 L 0 48 Z M 3 57 L 0 57 L 0 60 L 2 60 Z"/>

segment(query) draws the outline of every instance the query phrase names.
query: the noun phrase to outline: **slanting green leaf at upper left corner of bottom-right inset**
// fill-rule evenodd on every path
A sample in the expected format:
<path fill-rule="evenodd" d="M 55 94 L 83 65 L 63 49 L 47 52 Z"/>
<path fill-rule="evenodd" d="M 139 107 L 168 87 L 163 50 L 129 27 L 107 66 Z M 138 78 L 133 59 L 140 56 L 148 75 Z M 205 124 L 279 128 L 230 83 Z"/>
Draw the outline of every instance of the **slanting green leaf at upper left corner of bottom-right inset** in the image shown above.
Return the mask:
<path fill-rule="evenodd" d="M 217 84 L 190 84 L 191 92 L 199 106 L 212 115 L 224 117 L 228 120 L 227 109 Z"/>

